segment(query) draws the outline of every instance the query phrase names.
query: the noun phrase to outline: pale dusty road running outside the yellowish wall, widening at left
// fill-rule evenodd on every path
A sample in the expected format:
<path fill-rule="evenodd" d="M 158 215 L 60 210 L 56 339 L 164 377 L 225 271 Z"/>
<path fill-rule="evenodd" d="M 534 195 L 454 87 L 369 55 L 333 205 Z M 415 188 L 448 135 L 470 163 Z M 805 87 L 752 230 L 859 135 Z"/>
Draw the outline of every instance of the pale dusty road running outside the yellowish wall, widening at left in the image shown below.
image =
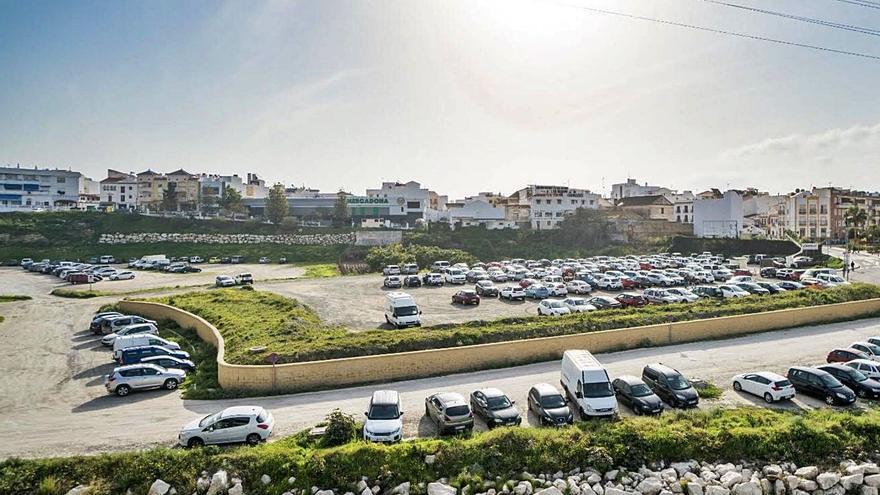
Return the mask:
<path fill-rule="evenodd" d="M 177 392 L 149 391 L 126 398 L 108 396 L 103 375 L 109 353 L 86 328 L 100 299 L 48 296 L 49 278 L 0 270 L 0 291 L 34 296 L 3 303 L 0 314 L 0 458 L 88 454 L 173 445 L 186 422 L 235 404 L 258 404 L 275 414 L 275 438 L 308 428 L 334 408 L 360 416 L 376 387 L 354 387 L 254 399 L 184 401 Z M 719 401 L 705 406 L 763 404 L 729 389 L 740 372 L 768 369 L 784 373 L 794 364 L 819 364 L 828 350 L 880 335 L 880 319 L 803 327 L 786 331 L 678 346 L 600 355 L 612 376 L 639 374 L 649 362 L 664 362 L 683 373 L 725 388 Z M 468 394 L 481 387 L 506 391 L 522 408 L 531 385 L 558 383 L 558 362 L 465 373 L 386 384 L 401 392 L 405 434 L 433 435 L 423 417 L 424 397 L 440 390 Z M 824 407 L 798 398 L 774 407 Z M 534 418 L 530 418 L 534 420 Z M 485 426 L 478 423 L 478 429 Z"/>

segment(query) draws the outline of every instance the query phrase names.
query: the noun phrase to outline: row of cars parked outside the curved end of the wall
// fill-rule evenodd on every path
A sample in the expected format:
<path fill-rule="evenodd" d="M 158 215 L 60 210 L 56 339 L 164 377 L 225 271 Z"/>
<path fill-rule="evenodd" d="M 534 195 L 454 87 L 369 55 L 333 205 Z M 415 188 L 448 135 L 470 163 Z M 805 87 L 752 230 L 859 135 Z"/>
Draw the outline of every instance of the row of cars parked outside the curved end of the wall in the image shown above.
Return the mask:
<path fill-rule="evenodd" d="M 136 390 L 174 390 L 196 369 L 178 343 L 159 336 L 153 320 L 106 311 L 94 316 L 89 329 L 101 336 L 101 344 L 112 349 L 119 364 L 104 381 L 108 393 L 125 397 Z"/>

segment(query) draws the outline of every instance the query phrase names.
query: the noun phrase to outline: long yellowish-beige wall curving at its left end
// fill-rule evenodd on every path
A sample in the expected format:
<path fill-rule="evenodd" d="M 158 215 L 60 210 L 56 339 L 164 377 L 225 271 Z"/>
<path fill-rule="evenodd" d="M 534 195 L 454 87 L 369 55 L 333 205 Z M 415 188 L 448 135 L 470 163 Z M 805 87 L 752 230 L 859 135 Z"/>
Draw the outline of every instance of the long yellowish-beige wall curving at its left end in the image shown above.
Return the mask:
<path fill-rule="evenodd" d="M 853 319 L 880 312 L 880 299 L 512 342 L 282 364 L 274 369 L 226 363 L 219 331 L 191 313 L 142 301 L 122 301 L 119 306 L 122 311 L 153 319 L 167 318 L 182 327 L 195 328 L 202 339 L 218 348 L 217 371 L 223 388 L 303 391 L 549 361 L 559 359 L 566 349 L 609 352 Z"/>

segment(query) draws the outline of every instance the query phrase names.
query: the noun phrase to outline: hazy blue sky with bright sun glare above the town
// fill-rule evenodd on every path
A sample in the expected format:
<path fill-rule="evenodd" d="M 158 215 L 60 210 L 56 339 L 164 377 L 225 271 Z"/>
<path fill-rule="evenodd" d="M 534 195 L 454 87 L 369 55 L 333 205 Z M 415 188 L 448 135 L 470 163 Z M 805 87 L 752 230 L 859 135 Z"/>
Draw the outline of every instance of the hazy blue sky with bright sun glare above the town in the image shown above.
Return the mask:
<path fill-rule="evenodd" d="M 729 3 L 880 29 L 838 0 Z M 880 60 L 584 7 L 880 56 L 706 0 L 0 0 L 0 164 L 452 199 L 880 189 Z"/>

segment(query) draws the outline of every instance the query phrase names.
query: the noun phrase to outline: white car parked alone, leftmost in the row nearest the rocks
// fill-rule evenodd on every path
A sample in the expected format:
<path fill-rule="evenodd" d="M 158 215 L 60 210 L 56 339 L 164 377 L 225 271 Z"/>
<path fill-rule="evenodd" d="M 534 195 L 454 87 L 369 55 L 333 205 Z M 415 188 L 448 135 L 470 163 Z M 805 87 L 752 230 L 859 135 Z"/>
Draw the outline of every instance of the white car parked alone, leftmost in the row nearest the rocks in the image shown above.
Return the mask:
<path fill-rule="evenodd" d="M 180 430 L 177 443 L 184 447 L 246 442 L 256 445 L 272 434 L 275 418 L 259 406 L 234 406 L 196 419 Z"/>

